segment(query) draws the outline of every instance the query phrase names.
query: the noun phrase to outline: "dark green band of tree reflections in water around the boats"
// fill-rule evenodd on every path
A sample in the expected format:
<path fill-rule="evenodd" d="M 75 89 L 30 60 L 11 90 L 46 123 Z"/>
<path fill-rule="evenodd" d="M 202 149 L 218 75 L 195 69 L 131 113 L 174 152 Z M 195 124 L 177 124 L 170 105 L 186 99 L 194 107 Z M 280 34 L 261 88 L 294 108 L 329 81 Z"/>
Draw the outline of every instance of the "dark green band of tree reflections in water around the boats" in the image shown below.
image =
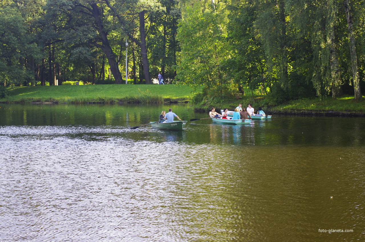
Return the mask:
<path fill-rule="evenodd" d="M 290 117 L 278 116 L 271 120 L 253 120 L 245 125 L 214 124 L 212 120 L 188 122 L 183 132 L 157 130 L 150 125 L 130 130 L 131 126 L 157 121 L 161 110 L 173 108 L 184 120 L 192 118 L 184 105 L 70 105 L 70 104 L 2 104 L 1 125 L 46 125 L 116 127 L 108 135 L 132 140 L 161 140 L 196 144 L 268 144 L 268 145 L 364 145 L 364 118 L 349 117 Z M 190 116 L 189 116 L 190 115 Z M 195 114 L 205 118 L 205 114 Z M 128 130 L 124 131 L 123 128 Z M 85 132 L 85 137 L 99 137 Z M 97 133 L 98 131 L 95 131 Z M 77 132 L 79 133 L 79 132 Z M 100 137 L 99 137 L 100 138 Z"/>

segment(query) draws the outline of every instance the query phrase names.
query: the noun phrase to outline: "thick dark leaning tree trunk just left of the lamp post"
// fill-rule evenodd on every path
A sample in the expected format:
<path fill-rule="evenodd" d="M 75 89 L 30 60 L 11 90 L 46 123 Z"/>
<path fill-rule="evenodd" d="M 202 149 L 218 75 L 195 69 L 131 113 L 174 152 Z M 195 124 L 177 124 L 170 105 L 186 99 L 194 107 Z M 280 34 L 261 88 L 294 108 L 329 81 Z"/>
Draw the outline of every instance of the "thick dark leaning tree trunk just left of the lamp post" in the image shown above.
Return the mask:
<path fill-rule="evenodd" d="M 104 28 L 103 28 L 103 21 L 100 18 L 99 8 L 97 7 L 96 3 L 92 3 L 91 7 L 92 7 L 93 17 L 96 20 L 97 26 L 99 28 L 99 34 L 100 34 L 101 42 L 103 43 L 103 46 L 99 46 L 96 43 L 92 43 L 92 44 L 94 44 L 97 47 L 100 47 L 103 50 L 103 52 L 105 53 L 105 55 L 107 56 L 107 59 L 108 59 L 109 65 L 110 65 L 110 70 L 115 79 L 115 84 L 123 83 L 122 74 L 120 74 L 119 66 L 116 62 L 114 52 L 113 52 L 113 50 L 110 46 L 109 40 L 108 40 L 108 34 L 104 31 Z"/>

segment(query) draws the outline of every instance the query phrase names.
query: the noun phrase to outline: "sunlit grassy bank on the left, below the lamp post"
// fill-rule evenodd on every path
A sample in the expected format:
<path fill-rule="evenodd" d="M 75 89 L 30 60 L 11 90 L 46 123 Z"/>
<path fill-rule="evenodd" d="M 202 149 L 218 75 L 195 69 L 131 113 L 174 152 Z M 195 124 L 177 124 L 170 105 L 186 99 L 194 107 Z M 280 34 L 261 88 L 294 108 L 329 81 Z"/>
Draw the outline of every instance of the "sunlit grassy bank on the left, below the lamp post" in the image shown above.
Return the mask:
<path fill-rule="evenodd" d="M 3 103 L 150 103 L 188 101 L 192 89 L 177 85 L 61 85 L 8 87 Z"/>

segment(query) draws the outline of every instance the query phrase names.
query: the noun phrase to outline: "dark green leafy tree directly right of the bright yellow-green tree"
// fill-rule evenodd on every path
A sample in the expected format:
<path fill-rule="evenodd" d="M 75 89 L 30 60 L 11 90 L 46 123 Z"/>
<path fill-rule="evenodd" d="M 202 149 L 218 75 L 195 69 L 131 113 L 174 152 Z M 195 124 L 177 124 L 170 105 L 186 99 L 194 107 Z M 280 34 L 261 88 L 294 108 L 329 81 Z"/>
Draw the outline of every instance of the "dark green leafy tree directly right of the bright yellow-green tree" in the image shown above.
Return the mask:
<path fill-rule="evenodd" d="M 254 23 L 258 17 L 255 1 L 232 1 L 228 18 L 228 43 L 231 58 L 224 67 L 229 78 L 238 84 L 242 93 L 245 86 L 262 91 L 271 87 L 266 58 L 260 35 Z M 251 93 L 252 94 L 252 93 Z"/>

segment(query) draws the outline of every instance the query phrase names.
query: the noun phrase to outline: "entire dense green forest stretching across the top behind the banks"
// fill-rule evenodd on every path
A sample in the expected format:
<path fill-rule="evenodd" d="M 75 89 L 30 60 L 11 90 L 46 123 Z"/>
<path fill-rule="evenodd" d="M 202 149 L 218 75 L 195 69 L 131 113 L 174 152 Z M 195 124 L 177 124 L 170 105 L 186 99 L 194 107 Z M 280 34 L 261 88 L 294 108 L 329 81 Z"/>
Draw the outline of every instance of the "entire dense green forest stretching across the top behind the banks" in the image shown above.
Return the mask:
<path fill-rule="evenodd" d="M 2 86 L 151 84 L 161 72 L 204 87 L 200 98 L 360 100 L 365 88 L 360 0 L 2 0 L 0 34 Z"/>

